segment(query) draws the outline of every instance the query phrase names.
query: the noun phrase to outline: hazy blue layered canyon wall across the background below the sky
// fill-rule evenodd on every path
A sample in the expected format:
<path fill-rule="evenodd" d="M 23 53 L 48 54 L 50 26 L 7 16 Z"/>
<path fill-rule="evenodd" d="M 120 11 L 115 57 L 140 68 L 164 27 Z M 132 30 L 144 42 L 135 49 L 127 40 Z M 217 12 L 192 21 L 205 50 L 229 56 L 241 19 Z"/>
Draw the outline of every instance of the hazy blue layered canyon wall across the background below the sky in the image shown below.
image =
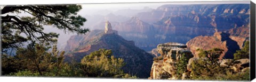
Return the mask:
<path fill-rule="evenodd" d="M 249 23 L 249 4 L 162 5 L 155 10 L 138 13 L 130 20 L 110 20 L 112 28 L 126 40 L 143 50 L 151 51 L 159 43 L 186 44 L 200 35 L 213 35 L 216 30 L 228 31 Z M 92 26 L 99 28 L 104 23 Z M 240 29 L 239 29 L 240 30 Z M 237 31 L 229 31 L 237 32 Z M 241 38 L 235 37 L 237 41 Z M 239 42 L 239 46 L 243 42 Z"/>

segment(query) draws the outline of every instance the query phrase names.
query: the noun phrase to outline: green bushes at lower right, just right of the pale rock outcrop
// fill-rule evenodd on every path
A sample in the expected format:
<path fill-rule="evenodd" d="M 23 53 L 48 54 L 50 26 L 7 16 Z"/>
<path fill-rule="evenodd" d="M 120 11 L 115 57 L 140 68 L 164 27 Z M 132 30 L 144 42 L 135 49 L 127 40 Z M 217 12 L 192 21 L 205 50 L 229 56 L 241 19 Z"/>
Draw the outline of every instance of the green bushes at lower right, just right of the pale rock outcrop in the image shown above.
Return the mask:
<path fill-rule="evenodd" d="M 211 50 L 198 49 L 199 58 L 191 63 L 190 79 L 196 80 L 250 80 L 250 69 L 242 72 L 235 72 L 229 67 L 233 60 L 228 60 L 227 67 L 220 67 L 219 56 L 221 49 Z"/>

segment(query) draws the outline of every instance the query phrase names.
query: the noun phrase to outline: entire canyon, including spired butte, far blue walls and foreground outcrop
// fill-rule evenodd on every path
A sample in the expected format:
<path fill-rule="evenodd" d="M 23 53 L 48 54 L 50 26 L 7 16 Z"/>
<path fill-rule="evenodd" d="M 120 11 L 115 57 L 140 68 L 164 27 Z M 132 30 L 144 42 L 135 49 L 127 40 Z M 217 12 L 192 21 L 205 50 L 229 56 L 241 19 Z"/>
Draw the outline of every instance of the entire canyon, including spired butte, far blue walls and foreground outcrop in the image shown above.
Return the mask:
<path fill-rule="evenodd" d="M 104 20 L 94 20 L 89 25 L 93 30 L 73 35 L 67 41 L 63 49 L 68 52 L 66 60 L 79 62 L 90 52 L 111 49 L 115 57 L 126 62 L 122 69 L 140 78 L 177 79 L 175 63 L 183 55 L 189 63 L 198 60 L 197 49 L 223 49 L 220 60 L 225 66 L 224 62 L 232 60 L 250 39 L 248 4 L 162 5 L 132 17 L 115 13 L 97 17 Z"/>

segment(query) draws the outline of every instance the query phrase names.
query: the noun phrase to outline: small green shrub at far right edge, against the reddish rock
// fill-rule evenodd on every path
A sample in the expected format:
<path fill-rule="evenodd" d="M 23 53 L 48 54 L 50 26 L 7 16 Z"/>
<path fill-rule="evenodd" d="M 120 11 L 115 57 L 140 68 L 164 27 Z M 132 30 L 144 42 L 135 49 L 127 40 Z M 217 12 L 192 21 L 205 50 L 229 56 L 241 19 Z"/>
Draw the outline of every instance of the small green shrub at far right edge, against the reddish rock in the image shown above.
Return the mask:
<path fill-rule="evenodd" d="M 236 53 L 234 53 L 234 60 L 244 59 L 249 57 L 250 57 L 250 42 L 246 41 L 244 43 L 244 47 L 241 50 L 237 50 Z"/>

